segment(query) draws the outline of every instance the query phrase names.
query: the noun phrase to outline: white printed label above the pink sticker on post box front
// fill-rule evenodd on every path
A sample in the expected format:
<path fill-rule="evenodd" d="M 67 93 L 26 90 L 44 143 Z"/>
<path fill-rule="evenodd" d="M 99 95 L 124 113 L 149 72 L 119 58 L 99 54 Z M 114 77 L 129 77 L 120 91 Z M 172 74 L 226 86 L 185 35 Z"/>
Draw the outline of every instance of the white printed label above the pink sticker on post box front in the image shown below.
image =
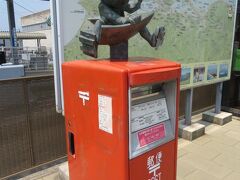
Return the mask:
<path fill-rule="evenodd" d="M 169 119 L 165 98 L 134 105 L 131 110 L 132 132 Z"/>

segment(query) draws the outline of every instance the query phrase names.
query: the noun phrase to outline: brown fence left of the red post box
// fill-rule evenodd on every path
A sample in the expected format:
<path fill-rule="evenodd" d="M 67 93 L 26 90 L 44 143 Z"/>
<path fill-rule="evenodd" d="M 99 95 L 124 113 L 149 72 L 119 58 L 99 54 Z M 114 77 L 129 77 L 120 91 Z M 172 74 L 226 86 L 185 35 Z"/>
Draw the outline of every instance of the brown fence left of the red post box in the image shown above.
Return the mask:
<path fill-rule="evenodd" d="M 53 77 L 0 81 L 0 179 L 65 155 Z"/>

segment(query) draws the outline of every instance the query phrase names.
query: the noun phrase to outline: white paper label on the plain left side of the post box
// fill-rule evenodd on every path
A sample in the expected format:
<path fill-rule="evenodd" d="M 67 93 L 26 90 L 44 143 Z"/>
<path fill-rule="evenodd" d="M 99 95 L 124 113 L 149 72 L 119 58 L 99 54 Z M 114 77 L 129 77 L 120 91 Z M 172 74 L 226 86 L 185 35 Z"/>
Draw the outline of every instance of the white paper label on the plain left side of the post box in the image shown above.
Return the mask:
<path fill-rule="evenodd" d="M 99 129 L 113 133 L 112 130 L 112 98 L 98 95 L 98 123 Z"/>

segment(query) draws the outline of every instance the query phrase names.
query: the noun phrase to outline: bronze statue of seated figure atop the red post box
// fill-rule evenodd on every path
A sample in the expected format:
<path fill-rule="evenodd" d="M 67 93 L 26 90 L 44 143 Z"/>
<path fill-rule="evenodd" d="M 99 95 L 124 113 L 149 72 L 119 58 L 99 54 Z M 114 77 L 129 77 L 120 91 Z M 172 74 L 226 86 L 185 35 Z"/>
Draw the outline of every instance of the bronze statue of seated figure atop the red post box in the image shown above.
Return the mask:
<path fill-rule="evenodd" d="M 142 0 L 101 0 L 98 6 L 100 18 L 89 19 L 94 24 L 93 32 L 80 33 L 83 52 L 97 57 L 98 45 L 110 45 L 111 55 L 121 51 L 111 58 L 127 58 L 127 52 L 122 51 L 126 51 L 128 39 L 138 32 L 152 47 L 162 45 L 165 28 L 158 27 L 153 34 L 149 32 L 146 25 L 154 13 L 138 12 L 141 3 Z M 125 12 L 129 14 L 125 15 Z"/>

